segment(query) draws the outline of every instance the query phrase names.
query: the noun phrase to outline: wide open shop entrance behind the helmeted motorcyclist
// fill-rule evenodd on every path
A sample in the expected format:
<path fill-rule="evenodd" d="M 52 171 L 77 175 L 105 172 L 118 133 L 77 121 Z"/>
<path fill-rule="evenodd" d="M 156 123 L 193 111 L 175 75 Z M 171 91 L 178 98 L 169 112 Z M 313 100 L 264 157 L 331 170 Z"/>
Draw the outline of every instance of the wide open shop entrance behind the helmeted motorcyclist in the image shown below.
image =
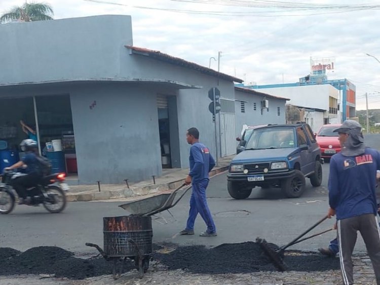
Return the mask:
<path fill-rule="evenodd" d="M 22 127 L 21 121 L 26 127 Z M 53 172 L 77 176 L 75 141 L 70 97 L 66 95 L 0 99 L 0 168 L 2 171 L 25 153 L 20 142 L 32 138 L 41 154 L 53 165 Z"/>

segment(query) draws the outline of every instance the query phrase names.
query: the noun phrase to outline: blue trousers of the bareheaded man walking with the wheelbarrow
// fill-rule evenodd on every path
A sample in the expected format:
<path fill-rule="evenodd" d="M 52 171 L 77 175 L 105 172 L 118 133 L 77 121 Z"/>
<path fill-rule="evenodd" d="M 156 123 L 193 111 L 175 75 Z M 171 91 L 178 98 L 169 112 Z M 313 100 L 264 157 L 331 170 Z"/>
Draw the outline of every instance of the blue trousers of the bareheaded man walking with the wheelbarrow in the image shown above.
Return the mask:
<path fill-rule="evenodd" d="M 207 232 L 216 232 L 214 220 L 212 219 L 206 200 L 207 185 L 207 179 L 193 184 L 193 192 L 190 198 L 190 211 L 188 212 L 188 219 L 186 223 L 187 230 L 194 230 L 195 219 L 199 213 L 207 225 Z"/>

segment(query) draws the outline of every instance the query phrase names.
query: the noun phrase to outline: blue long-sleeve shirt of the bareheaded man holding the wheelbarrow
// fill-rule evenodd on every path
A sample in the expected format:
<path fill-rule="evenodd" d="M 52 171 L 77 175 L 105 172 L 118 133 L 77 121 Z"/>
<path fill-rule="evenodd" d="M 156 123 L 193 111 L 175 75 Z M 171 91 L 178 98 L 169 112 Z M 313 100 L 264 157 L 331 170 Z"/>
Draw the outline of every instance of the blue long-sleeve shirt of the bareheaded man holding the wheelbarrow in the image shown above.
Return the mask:
<path fill-rule="evenodd" d="M 193 184 L 209 179 L 208 173 L 215 166 L 215 160 L 210 151 L 200 142 L 193 144 L 190 148 L 189 162 L 190 172 L 188 175 L 192 177 Z"/>

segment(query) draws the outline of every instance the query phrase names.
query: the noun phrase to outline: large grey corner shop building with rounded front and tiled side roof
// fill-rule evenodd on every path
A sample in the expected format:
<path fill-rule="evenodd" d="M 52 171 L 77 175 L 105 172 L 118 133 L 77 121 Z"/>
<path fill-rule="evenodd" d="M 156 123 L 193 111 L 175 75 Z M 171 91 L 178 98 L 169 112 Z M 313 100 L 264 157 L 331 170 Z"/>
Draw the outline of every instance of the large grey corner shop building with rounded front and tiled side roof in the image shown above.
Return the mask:
<path fill-rule="evenodd" d="M 17 147 L 25 138 L 20 119 L 36 129 L 41 148 L 61 139 L 80 184 L 188 167 L 190 127 L 213 155 L 235 152 L 234 83 L 242 80 L 134 47 L 130 16 L 2 24 L 0 38 L 0 130 L 13 130 L 0 140 Z M 224 102 L 216 128 L 213 87 Z"/>

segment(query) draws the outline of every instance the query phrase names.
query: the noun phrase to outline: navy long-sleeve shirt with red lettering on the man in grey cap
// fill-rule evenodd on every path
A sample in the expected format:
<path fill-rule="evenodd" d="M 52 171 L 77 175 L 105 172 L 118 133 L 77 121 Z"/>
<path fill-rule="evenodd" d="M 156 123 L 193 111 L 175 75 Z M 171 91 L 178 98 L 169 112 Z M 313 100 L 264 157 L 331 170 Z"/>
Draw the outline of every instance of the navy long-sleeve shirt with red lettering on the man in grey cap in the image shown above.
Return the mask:
<path fill-rule="evenodd" d="M 367 147 L 364 154 L 355 157 L 341 153 L 331 157 L 329 204 L 336 211 L 336 219 L 376 215 L 376 170 L 379 169 L 380 153 L 373 148 Z"/>

